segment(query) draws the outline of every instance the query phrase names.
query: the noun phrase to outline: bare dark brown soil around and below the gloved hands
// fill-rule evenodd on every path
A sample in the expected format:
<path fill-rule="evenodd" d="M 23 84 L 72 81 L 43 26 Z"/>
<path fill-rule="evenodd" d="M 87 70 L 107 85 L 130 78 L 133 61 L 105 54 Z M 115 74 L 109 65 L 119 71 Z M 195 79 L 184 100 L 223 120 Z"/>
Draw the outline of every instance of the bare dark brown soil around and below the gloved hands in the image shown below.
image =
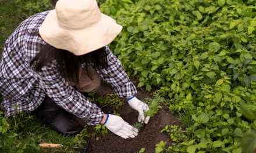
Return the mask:
<path fill-rule="evenodd" d="M 108 93 L 113 93 L 113 90 L 108 85 L 102 85 L 102 88 L 97 92 L 99 96 L 104 96 Z M 141 90 L 138 90 L 136 94 L 136 97 L 141 100 L 150 96 L 150 94 Z M 102 110 L 105 113 L 112 113 L 112 110 L 108 108 L 102 108 Z M 130 125 L 138 122 L 137 111 L 133 110 L 128 103 L 125 103 L 122 108 L 120 108 L 119 113 Z M 168 108 L 159 110 L 157 115 L 151 117 L 148 124 L 141 128 L 137 137 L 133 139 L 122 139 L 122 137 L 109 131 L 99 140 L 91 139 L 87 152 L 138 152 L 141 148 L 145 148 L 145 152 L 155 152 L 155 144 L 158 144 L 160 141 L 166 141 L 166 146 L 172 143 L 167 134 L 160 133 L 165 125 L 181 125 L 177 120 L 177 115 L 170 114 Z"/>

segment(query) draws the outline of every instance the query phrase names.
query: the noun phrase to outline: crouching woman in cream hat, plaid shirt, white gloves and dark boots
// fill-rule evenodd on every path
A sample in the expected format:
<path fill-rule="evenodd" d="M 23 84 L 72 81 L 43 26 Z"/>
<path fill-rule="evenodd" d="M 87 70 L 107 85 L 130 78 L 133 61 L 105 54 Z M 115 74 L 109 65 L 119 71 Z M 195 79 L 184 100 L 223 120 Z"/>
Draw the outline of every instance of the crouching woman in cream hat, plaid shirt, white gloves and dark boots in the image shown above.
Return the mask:
<path fill-rule="evenodd" d="M 95 0 L 59 0 L 54 10 L 29 17 L 6 40 L 0 64 L 1 108 L 10 116 L 40 105 L 42 121 L 62 133 L 81 130 L 65 114 L 88 125 L 102 123 L 125 139 L 138 130 L 116 115 L 104 114 L 80 92 L 95 92 L 101 79 L 144 117 L 148 105 L 138 100 L 120 61 L 106 46 L 122 26 L 99 11 Z M 37 109 L 38 110 L 38 109 Z"/>

